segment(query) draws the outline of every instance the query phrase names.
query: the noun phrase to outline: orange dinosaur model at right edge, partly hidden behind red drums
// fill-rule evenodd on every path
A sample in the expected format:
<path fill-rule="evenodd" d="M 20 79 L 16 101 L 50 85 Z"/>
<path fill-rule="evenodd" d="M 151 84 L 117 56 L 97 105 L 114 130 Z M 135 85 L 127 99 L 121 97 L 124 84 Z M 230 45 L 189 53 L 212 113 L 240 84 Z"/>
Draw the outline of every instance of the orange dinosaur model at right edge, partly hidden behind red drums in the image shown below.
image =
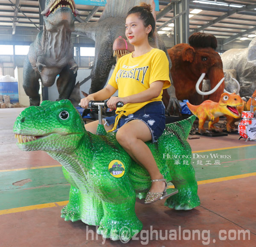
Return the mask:
<path fill-rule="evenodd" d="M 236 130 L 237 126 L 235 125 L 235 122 L 241 119 L 242 111 L 250 111 L 251 104 L 253 105 L 253 110 L 255 110 L 256 108 L 255 98 L 256 98 L 256 90 L 253 92 L 253 100 L 249 99 L 247 102 L 243 100 L 243 105 L 237 108 L 238 112 L 240 113 L 239 118 L 233 118 L 232 116 L 225 115 L 227 118 L 226 127 L 228 132 Z"/>

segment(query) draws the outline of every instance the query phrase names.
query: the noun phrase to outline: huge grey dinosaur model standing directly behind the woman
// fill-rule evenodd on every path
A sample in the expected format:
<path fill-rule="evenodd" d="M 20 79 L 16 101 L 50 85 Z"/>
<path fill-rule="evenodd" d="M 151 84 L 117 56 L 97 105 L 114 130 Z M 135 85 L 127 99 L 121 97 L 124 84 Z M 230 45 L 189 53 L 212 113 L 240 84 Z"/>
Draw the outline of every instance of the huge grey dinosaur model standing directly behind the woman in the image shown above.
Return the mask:
<path fill-rule="evenodd" d="M 93 23 L 76 23 L 75 31 L 86 35 L 95 41 L 95 58 L 91 71 L 91 87 L 90 93 L 101 90 L 107 80 L 111 67 L 116 63 L 113 57 L 113 42 L 119 36 L 125 37 L 125 17 L 128 10 L 140 5 L 141 2 L 151 3 L 152 0 L 108 0 L 105 10 L 99 21 Z M 150 45 L 166 52 L 169 59 L 166 46 L 161 41 L 157 30 L 155 29 L 154 38 L 151 39 Z M 171 68 L 171 60 L 169 59 L 169 67 Z M 180 105 L 175 96 L 175 88 L 168 88 L 169 108 L 173 113 L 177 113 Z"/>

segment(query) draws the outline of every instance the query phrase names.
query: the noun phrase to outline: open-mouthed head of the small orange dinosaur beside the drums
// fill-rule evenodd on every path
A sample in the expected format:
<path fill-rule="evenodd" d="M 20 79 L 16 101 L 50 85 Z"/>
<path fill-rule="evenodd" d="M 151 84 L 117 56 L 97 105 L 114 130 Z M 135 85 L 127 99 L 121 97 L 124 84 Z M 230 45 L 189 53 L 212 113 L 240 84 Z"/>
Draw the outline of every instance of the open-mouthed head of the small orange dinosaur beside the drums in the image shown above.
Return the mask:
<path fill-rule="evenodd" d="M 221 112 L 226 115 L 233 116 L 233 118 L 239 118 L 240 113 L 237 107 L 243 105 L 243 100 L 241 97 L 235 93 L 222 93 L 219 100 L 219 107 L 222 108 Z"/>

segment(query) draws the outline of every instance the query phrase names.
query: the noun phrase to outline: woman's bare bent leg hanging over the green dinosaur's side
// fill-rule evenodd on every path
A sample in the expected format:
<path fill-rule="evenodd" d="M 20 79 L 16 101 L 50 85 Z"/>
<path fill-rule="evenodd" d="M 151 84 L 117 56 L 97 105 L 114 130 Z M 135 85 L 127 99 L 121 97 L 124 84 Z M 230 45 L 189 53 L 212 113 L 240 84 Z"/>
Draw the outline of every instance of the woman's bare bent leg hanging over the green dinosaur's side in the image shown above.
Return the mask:
<path fill-rule="evenodd" d="M 162 179 L 157 163 L 145 144 L 151 140 L 151 133 L 145 122 L 141 120 L 131 120 L 123 125 L 116 133 L 116 139 L 125 151 L 137 162 L 145 167 L 151 180 Z M 157 181 L 151 184 L 150 192 L 163 192 L 166 183 Z"/>

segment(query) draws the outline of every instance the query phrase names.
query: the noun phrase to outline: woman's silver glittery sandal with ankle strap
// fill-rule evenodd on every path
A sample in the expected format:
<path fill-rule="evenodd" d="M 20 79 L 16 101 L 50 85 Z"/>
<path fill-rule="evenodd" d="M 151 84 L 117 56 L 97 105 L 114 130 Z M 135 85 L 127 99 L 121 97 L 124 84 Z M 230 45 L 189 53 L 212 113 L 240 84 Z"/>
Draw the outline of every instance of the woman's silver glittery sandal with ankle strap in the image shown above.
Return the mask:
<path fill-rule="evenodd" d="M 163 181 L 166 183 L 166 179 L 164 178 L 151 180 L 151 182 L 158 182 L 158 181 Z M 168 192 L 167 192 L 167 183 L 166 183 L 166 186 L 163 192 L 148 192 L 145 198 L 145 203 L 152 203 L 158 200 L 162 200 L 162 199 L 168 198 L 171 195 L 175 195 L 176 193 L 178 193 L 177 189 L 168 189 Z"/>

